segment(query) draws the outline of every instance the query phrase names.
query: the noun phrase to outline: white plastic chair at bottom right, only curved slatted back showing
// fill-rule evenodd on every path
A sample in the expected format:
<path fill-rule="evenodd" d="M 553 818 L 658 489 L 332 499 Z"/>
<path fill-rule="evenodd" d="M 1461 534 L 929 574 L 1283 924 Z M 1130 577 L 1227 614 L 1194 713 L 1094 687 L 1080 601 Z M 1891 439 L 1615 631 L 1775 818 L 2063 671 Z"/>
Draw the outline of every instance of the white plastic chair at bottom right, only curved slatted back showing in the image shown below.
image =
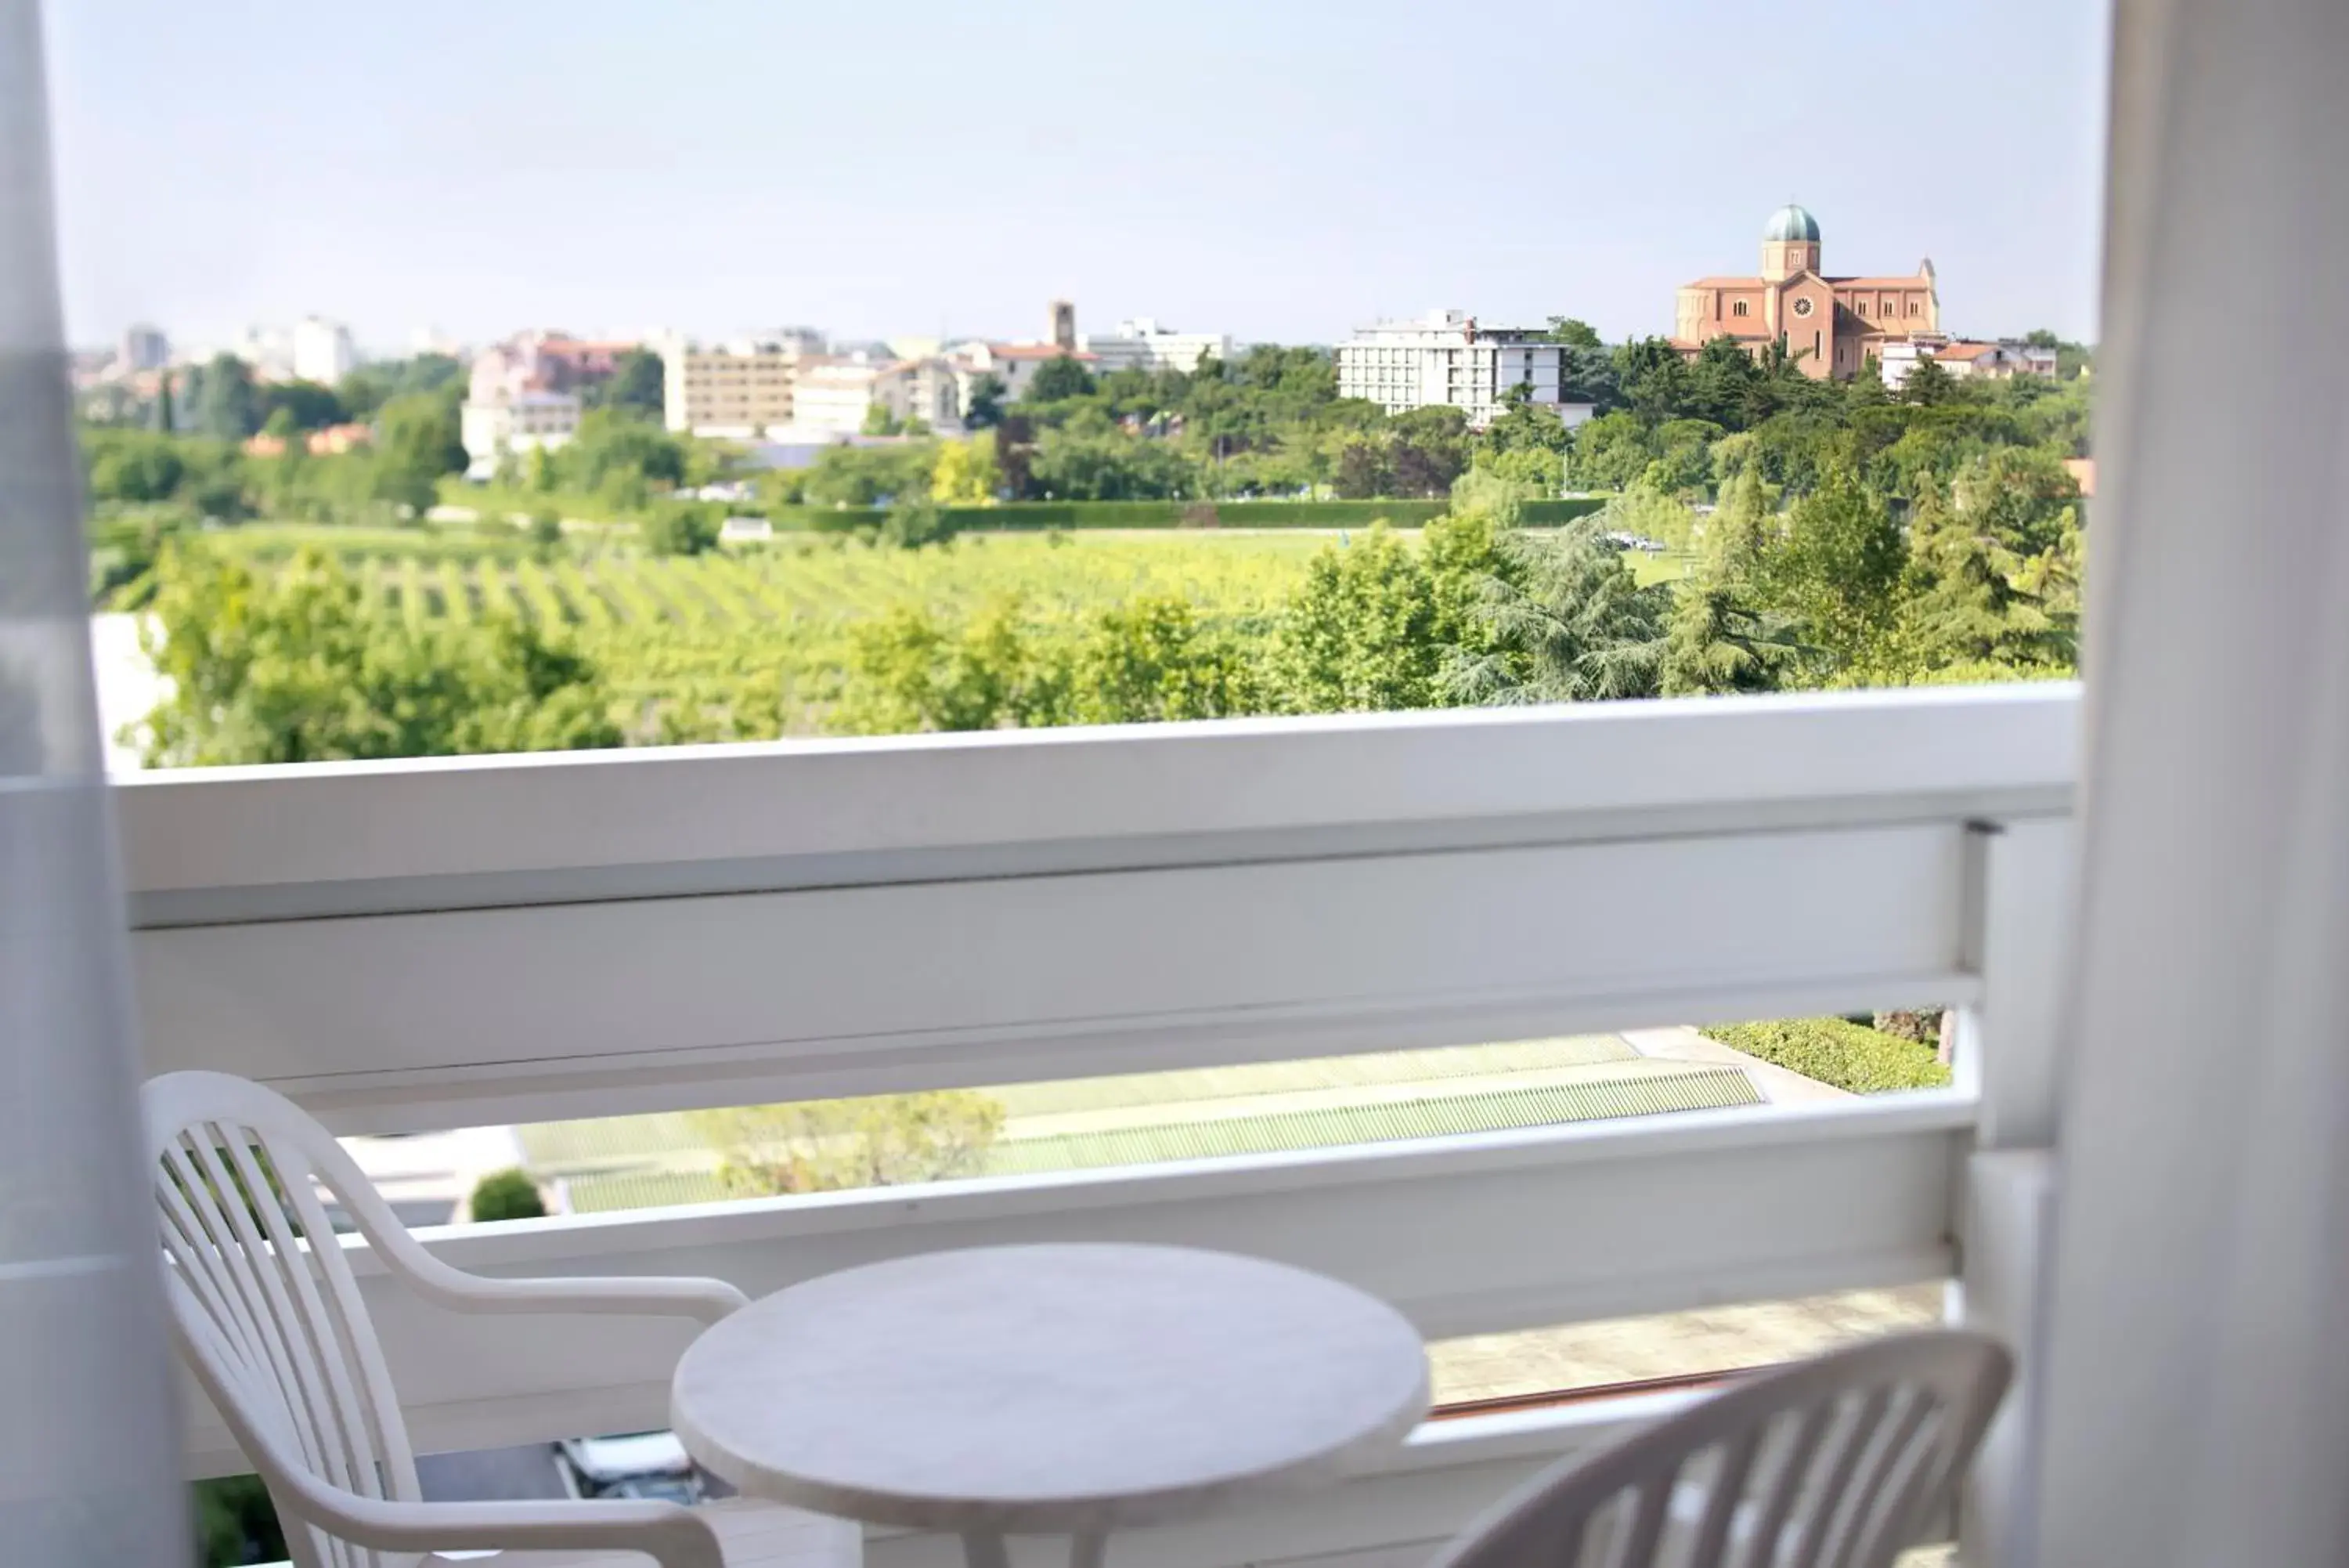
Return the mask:
<path fill-rule="evenodd" d="M 1534 1476 L 1431 1568 L 1884 1568 L 1966 1474 L 2011 1375 L 1966 1331 L 1759 1373 Z"/>

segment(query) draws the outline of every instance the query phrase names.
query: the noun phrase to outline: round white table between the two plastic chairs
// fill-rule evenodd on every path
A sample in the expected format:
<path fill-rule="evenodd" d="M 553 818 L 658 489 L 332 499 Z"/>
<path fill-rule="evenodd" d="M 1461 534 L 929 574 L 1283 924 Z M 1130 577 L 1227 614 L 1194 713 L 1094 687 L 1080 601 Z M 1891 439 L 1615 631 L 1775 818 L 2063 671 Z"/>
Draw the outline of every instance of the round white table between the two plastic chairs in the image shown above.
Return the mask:
<path fill-rule="evenodd" d="M 991 1246 L 810 1279 L 709 1328 L 669 1422 L 752 1497 L 1073 1537 L 1346 1474 L 1428 1408 L 1419 1333 L 1320 1274 L 1172 1246 Z"/>

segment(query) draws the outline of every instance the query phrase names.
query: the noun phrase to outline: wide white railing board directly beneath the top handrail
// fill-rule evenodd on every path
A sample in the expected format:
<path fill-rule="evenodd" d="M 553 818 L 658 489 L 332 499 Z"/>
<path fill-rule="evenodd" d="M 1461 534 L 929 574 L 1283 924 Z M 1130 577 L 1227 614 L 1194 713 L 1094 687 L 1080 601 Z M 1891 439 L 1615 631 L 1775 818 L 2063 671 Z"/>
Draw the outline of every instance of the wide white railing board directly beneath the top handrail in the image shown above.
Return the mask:
<path fill-rule="evenodd" d="M 186 926 L 134 959 L 155 1070 L 399 1131 L 1947 1001 L 1961 907 L 1959 827 L 1912 825 Z"/>

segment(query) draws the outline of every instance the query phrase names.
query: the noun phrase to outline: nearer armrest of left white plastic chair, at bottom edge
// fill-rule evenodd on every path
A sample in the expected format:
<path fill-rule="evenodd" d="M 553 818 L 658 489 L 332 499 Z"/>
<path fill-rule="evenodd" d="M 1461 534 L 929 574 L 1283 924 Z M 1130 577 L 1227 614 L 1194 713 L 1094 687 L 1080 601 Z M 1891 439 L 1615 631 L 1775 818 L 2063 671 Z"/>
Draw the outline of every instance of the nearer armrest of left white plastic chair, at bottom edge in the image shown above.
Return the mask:
<path fill-rule="evenodd" d="M 644 1552 L 660 1568 L 726 1568 L 716 1530 L 674 1502 L 383 1502 L 275 1476 L 317 1528 L 383 1552 Z"/>

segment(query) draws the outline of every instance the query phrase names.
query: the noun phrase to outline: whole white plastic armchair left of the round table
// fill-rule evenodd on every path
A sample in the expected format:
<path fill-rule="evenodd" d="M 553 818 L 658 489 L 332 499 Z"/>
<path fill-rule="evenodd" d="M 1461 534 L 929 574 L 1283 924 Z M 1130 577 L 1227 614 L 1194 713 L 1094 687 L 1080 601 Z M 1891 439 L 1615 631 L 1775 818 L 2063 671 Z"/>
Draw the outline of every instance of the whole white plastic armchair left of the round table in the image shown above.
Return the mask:
<path fill-rule="evenodd" d="M 423 1502 L 383 1349 L 317 1187 L 418 1295 L 456 1312 L 714 1324 L 716 1279 L 482 1279 L 428 1253 L 327 1128 L 221 1072 L 141 1091 L 174 1338 L 268 1483 L 298 1568 L 409 1568 L 507 1549 L 521 1568 L 855 1568 L 855 1523 L 768 1502 Z M 547 1554 L 559 1556 L 547 1556 Z M 639 1556 L 641 1554 L 641 1556 Z"/>

